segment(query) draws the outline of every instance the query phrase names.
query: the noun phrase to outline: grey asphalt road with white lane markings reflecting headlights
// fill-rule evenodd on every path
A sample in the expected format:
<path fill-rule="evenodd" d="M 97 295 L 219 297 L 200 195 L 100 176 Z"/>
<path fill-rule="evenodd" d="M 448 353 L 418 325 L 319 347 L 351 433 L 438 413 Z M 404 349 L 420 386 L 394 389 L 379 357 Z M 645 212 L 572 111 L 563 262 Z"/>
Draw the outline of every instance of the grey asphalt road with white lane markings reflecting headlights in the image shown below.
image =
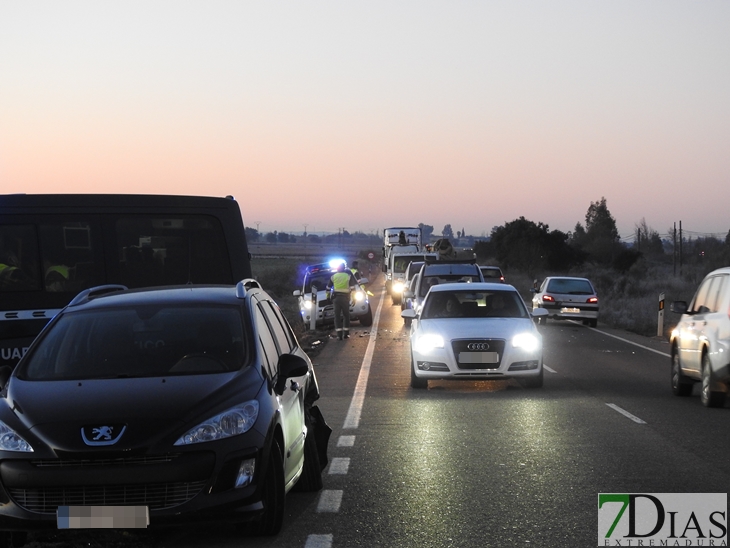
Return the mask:
<path fill-rule="evenodd" d="M 549 321 L 542 388 L 413 390 L 400 307 L 379 289 L 377 324 L 314 359 L 333 429 L 324 490 L 291 493 L 273 539 L 200 528 L 129 546 L 587 547 L 598 493 L 729 490 L 730 404 L 673 396 L 665 341 Z"/>

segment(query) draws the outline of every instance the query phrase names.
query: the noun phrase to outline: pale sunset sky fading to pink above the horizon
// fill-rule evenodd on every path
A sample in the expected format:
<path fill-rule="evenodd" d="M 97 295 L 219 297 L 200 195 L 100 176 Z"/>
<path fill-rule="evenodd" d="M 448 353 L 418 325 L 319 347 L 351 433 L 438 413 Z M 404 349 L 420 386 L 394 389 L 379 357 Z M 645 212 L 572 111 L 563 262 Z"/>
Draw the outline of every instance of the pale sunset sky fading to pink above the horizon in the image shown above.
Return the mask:
<path fill-rule="evenodd" d="M 730 2 L 0 0 L 0 193 L 730 230 Z"/>

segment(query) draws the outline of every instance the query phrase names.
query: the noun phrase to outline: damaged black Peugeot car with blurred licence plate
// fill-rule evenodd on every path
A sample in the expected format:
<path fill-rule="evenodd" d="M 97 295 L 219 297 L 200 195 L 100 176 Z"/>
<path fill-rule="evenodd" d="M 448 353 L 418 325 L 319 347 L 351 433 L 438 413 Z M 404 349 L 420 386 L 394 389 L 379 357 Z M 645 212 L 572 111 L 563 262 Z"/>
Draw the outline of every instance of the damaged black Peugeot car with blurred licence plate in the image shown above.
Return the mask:
<path fill-rule="evenodd" d="M 120 507 L 273 535 L 290 489 L 322 487 L 314 370 L 254 280 L 85 290 L 0 383 L 5 543 Z"/>

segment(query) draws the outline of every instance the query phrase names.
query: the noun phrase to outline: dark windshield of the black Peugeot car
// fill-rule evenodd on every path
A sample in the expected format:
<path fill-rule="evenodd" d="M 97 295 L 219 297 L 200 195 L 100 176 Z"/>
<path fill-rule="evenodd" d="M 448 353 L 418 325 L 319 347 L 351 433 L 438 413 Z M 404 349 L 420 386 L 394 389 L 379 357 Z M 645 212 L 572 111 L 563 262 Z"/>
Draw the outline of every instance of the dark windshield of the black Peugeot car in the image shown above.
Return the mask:
<path fill-rule="evenodd" d="M 28 356 L 24 380 L 159 377 L 241 369 L 248 356 L 233 307 L 150 307 L 64 314 Z"/>

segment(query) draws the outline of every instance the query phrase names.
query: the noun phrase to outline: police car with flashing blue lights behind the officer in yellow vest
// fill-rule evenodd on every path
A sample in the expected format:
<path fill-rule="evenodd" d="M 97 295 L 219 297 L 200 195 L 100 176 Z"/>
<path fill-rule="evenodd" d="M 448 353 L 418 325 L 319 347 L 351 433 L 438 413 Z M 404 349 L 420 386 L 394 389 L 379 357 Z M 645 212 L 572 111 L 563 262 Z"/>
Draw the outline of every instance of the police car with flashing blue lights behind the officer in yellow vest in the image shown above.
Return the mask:
<path fill-rule="evenodd" d="M 332 274 L 337 271 L 337 266 L 343 262 L 345 261 L 342 259 L 334 259 L 328 263 L 310 265 L 304 271 L 302 288 L 295 290 L 293 295 L 299 302 L 299 313 L 305 325 L 311 325 L 312 314 L 315 314 L 317 327 L 334 323 L 335 309 L 332 300 L 327 298 L 326 289 Z M 359 321 L 360 325 L 369 327 L 373 324 L 373 312 L 367 291 L 363 288 L 366 283 L 367 278 L 360 278 L 354 298 L 350 301 L 350 320 Z M 316 304 L 312 302 L 313 296 Z"/>

